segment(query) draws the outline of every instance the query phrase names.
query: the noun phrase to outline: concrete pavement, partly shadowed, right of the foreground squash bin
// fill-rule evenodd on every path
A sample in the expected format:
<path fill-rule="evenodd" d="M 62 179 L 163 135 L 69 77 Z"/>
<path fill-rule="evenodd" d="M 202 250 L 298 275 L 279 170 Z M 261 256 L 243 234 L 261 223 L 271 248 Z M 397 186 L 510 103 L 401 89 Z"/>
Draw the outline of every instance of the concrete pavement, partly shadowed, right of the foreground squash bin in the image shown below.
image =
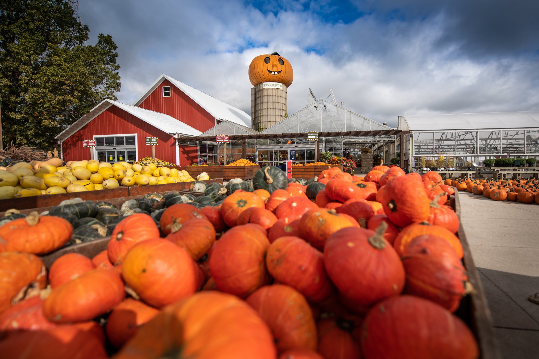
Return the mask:
<path fill-rule="evenodd" d="M 539 357 L 539 205 L 459 192 L 461 221 L 505 359 Z"/>

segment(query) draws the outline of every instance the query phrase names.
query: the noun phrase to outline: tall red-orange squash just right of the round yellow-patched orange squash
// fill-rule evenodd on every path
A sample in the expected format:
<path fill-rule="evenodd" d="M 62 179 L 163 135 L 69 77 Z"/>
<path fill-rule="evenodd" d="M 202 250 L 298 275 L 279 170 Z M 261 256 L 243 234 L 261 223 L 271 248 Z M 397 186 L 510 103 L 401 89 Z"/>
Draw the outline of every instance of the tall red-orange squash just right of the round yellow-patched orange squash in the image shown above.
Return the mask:
<path fill-rule="evenodd" d="M 258 224 L 229 229 L 219 238 L 210 257 L 210 272 L 220 291 L 245 298 L 267 280 L 269 241 Z"/>

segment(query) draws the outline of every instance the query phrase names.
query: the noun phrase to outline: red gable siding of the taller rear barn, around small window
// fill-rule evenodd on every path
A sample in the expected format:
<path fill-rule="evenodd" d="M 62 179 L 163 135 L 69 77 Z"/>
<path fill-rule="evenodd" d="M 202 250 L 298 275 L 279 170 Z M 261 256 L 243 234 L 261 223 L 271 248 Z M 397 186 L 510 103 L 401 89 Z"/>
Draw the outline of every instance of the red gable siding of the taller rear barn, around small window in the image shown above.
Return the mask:
<path fill-rule="evenodd" d="M 163 97 L 163 86 L 170 86 L 170 97 Z M 215 126 L 215 117 L 167 79 L 164 79 L 139 107 L 167 114 L 202 132 Z"/>

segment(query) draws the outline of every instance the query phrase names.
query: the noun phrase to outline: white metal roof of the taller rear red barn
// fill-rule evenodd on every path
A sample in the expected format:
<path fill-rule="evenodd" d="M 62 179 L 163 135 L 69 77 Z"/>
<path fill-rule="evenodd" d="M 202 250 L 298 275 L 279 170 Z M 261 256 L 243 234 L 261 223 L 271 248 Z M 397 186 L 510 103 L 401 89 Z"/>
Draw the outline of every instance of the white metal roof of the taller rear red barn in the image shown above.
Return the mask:
<path fill-rule="evenodd" d="M 134 103 L 134 105 L 139 106 L 142 101 L 144 101 L 144 99 L 146 99 L 146 97 L 148 97 L 148 95 L 151 94 L 161 82 L 163 82 L 164 79 L 169 80 L 172 84 L 174 84 L 174 86 L 191 97 L 193 101 L 201 105 L 203 109 L 208 111 L 216 119 L 226 119 L 239 125 L 248 127 L 251 126 L 251 116 L 247 115 L 244 111 L 224 103 L 223 101 L 219 101 L 217 98 L 211 97 L 210 95 L 205 94 L 196 88 L 185 85 L 185 83 L 173 79 L 165 74 L 162 74 L 160 78 L 158 78 L 153 85 L 151 85 L 148 91 L 146 91 L 146 93 Z"/>

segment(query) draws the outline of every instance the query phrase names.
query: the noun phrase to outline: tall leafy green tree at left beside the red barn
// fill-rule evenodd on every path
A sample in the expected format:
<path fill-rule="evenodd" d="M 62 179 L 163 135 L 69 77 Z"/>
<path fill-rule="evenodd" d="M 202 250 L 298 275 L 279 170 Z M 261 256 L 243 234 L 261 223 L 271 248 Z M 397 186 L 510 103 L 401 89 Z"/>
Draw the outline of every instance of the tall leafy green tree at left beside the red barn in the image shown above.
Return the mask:
<path fill-rule="evenodd" d="M 0 3 L 0 101 L 4 144 L 46 149 L 96 104 L 116 100 L 120 75 L 116 44 L 89 28 L 64 0 Z"/>

